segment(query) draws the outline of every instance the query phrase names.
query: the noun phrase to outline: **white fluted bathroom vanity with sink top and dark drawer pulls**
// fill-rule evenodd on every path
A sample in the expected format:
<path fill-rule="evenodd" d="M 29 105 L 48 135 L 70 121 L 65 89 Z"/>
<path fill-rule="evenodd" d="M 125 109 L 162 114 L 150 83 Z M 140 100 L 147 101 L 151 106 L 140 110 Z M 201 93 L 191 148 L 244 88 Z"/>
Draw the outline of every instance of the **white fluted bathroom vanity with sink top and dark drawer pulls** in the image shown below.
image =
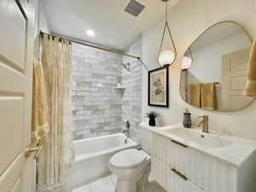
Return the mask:
<path fill-rule="evenodd" d="M 256 142 L 181 124 L 151 131 L 152 176 L 167 192 L 256 191 Z"/>

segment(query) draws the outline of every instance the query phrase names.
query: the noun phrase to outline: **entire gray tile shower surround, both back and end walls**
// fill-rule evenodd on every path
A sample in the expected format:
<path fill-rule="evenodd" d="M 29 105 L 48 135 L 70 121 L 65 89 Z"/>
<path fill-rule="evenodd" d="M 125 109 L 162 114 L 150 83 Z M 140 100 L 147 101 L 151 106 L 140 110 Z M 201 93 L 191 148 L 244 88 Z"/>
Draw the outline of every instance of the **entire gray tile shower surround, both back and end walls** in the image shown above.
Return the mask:
<path fill-rule="evenodd" d="M 142 55 L 138 37 L 125 51 Z M 131 63 L 131 72 L 121 62 Z M 141 122 L 142 67 L 135 60 L 80 44 L 73 44 L 73 125 L 74 138 L 82 139 L 114 134 L 131 122 L 131 137 L 138 139 Z M 127 89 L 113 90 L 118 80 Z"/>

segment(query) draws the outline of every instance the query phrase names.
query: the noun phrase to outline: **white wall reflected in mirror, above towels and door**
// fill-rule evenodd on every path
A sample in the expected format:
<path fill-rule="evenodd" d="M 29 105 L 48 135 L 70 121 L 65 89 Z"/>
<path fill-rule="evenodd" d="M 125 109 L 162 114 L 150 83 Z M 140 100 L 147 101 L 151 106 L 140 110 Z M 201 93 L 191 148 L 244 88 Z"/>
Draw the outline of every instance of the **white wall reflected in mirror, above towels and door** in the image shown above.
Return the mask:
<path fill-rule="evenodd" d="M 201 37 L 203 39 L 203 36 Z M 196 44 L 196 43 L 195 43 Z M 204 83 L 222 83 L 222 56 L 231 54 L 241 49 L 248 49 L 250 40 L 245 33 L 232 35 L 213 44 L 191 49 L 193 64 L 189 72 Z"/>

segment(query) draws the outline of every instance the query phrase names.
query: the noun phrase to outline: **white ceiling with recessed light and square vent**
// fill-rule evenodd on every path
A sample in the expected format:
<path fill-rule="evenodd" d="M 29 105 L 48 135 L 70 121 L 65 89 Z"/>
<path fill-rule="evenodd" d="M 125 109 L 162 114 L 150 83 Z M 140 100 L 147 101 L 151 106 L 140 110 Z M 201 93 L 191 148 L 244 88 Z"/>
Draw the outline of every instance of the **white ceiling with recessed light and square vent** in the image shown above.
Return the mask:
<path fill-rule="evenodd" d="M 78 38 L 113 49 L 125 49 L 137 35 L 165 14 L 161 0 L 137 0 L 146 8 L 134 17 L 124 12 L 129 0 L 44 0 L 41 1 L 51 32 Z M 180 0 L 171 0 L 169 8 Z M 95 31 L 94 37 L 86 34 Z"/>

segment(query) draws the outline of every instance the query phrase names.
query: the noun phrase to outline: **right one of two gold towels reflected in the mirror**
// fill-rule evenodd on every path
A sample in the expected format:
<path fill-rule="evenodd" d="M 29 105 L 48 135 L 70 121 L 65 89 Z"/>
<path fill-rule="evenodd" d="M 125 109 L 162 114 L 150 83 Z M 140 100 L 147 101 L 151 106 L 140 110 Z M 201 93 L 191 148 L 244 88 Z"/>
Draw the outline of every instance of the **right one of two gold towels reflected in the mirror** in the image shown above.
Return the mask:
<path fill-rule="evenodd" d="M 216 109 L 215 83 L 201 84 L 201 108 Z"/>

